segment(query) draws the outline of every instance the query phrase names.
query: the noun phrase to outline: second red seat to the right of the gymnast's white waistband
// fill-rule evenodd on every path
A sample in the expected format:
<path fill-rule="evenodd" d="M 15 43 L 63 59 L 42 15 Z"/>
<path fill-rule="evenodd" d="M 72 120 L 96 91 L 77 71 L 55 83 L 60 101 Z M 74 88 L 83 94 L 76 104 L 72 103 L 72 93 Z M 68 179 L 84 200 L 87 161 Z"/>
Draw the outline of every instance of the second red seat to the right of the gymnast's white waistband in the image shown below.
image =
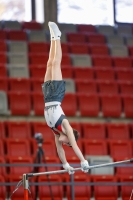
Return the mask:
<path fill-rule="evenodd" d="M 78 105 L 81 116 L 97 117 L 100 111 L 100 102 L 97 94 L 78 94 Z"/>

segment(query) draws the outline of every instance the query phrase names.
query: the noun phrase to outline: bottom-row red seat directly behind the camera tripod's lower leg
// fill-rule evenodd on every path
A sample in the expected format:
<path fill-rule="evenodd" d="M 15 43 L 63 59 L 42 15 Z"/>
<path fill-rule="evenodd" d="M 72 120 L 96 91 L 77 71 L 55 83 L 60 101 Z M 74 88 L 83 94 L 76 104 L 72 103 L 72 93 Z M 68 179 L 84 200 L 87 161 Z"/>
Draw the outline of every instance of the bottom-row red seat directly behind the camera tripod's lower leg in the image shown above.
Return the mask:
<path fill-rule="evenodd" d="M 50 182 L 61 183 L 62 179 L 58 175 L 52 175 L 52 176 L 49 176 L 49 181 Z M 47 176 L 40 176 L 38 178 L 38 182 L 39 183 L 41 183 L 41 182 L 49 183 L 49 181 L 48 181 L 48 177 Z M 52 189 L 52 194 L 54 196 L 54 199 L 56 199 L 56 198 L 62 199 L 62 197 L 63 197 L 63 188 L 62 188 L 61 185 L 57 185 L 57 184 L 52 185 L 51 189 Z M 49 185 L 44 185 L 44 186 L 40 185 L 38 187 L 38 197 L 39 197 L 39 199 L 44 200 L 44 199 L 47 199 L 47 197 L 50 197 L 50 196 L 51 196 L 51 193 L 50 193 Z"/>

